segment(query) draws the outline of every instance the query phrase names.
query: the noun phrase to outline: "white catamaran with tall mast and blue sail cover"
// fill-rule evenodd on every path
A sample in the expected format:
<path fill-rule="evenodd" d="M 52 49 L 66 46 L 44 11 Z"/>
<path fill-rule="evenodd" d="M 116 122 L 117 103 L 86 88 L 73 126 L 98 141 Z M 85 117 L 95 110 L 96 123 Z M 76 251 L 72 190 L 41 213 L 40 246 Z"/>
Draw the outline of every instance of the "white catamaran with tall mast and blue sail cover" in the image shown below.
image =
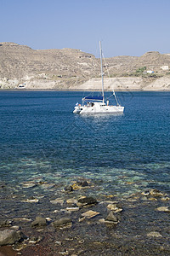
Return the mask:
<path fill-rule="evenodd" d="M 109 101 L 105 104 L 105 94 L 104 94 L 104 73 L 102 65 L 102 49 L 101 42 L 99 42 L 100 49 L 100 62 L 101 62 L 101 82 L 102 82 L 102 95 L 101 96 L 86 96 L 82 98 L 82 104 L 76 104 L 73 113 L 80 114 L 95 114 L 95 113 L 123 113 L 124 107 L 122 107 L 116 98 L 116 93 L 113 91 L 113 96 L 116 99 L 116 105 L 109 105 Z"/>

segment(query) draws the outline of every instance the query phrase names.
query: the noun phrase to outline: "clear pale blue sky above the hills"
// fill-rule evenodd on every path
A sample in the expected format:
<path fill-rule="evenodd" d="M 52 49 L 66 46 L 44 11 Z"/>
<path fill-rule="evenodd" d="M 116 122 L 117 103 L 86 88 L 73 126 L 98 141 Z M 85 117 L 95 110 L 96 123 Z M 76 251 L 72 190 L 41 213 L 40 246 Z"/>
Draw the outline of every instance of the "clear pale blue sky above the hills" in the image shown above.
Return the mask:
<path fill-rule="evenodd" d="M 105 57 L 170 53 L 170 0 L 0 0 L 0 42 Z"/>

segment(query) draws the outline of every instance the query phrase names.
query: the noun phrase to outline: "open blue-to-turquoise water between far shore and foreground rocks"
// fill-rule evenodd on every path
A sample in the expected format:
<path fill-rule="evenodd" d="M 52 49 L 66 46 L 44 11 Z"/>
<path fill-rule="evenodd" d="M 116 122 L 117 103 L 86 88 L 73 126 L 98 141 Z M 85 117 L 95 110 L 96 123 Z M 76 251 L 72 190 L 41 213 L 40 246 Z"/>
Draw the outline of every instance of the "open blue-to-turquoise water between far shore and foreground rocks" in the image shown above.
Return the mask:
<path fill-rule="evenodd" d="M 90 117 L 72 113 L 82 92 L 1 91 L 1 182 L 85 177 L 105 194 L 169 192 L 170 92 L 117 94 L 123 115 Z"/>

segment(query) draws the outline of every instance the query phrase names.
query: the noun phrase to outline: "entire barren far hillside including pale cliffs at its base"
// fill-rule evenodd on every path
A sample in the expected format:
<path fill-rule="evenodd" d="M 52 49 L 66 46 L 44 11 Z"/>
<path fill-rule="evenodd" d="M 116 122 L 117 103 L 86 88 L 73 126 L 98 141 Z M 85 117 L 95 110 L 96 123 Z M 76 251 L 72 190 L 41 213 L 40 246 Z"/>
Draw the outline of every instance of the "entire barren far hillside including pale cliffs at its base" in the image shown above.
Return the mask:
<path fill-rule="evenodd" d="M 170 90 L 169 68 L 170 55 L 159 52 L 107 58 L 105 89 Z M 1 89 L 100 90 L 99 76 L 99 59 L 80 49 L 35 50 L 0 43 Z"/>

